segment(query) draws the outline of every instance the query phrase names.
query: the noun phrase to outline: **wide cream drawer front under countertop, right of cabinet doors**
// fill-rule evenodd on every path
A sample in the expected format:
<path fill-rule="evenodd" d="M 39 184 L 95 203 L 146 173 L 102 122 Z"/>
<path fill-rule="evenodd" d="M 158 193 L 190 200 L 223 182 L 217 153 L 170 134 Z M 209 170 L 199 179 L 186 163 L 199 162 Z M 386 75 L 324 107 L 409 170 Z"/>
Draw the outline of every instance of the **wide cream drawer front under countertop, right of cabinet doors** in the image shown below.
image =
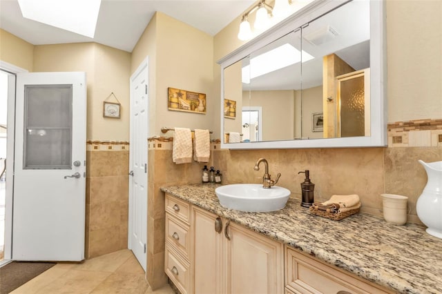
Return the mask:
<path fill-rule="evenodd" d="M 294 293 L 387 293 L 323 262 L 287 248 L 286 287 Z M 287 291 L 288 292 L 288 291 Z"/>

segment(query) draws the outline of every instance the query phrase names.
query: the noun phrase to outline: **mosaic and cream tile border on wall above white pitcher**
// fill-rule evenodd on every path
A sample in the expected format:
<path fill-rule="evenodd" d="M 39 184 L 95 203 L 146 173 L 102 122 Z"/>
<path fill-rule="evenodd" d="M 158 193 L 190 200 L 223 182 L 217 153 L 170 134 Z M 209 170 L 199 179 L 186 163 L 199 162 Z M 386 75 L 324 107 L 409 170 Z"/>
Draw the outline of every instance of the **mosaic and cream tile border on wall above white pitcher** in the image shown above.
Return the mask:
<path fill-rule="evenodd" d="M 442 147 L 442 119 L 416 119 L 388 124 L 389 147 Z"/>

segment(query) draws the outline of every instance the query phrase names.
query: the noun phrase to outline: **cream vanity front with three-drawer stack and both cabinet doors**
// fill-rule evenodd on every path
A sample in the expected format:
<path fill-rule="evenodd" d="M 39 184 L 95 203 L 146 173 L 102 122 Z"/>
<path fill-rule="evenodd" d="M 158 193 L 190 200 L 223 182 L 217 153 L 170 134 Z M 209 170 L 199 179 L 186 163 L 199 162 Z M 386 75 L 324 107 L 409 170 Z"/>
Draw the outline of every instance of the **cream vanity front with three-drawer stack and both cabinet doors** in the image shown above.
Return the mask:
<path fill-rule="evenodd" d="M 284 293 L 280 242 L 168 194 L 165 235 L 165 272 L 182 294 Z"/>

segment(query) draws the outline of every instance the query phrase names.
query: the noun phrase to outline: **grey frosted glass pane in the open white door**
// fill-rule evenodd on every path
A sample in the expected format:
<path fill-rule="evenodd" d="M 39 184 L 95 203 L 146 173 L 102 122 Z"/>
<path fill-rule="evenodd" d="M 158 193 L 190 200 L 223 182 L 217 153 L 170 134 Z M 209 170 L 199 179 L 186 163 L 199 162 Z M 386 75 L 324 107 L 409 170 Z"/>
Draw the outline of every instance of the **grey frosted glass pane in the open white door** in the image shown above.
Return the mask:
<path fill-rule="evenodd" d="M 72 86 L 25 86 L 23 169 L 71 169 Z"/>

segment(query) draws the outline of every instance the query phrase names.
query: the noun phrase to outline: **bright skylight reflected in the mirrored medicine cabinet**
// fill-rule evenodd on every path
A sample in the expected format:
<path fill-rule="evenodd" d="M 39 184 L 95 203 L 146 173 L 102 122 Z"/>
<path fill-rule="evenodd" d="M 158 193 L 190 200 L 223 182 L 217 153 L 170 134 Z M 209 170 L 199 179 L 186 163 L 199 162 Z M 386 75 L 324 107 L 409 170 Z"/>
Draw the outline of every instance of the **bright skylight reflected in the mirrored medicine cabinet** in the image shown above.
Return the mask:
<path fill-rule="evenodd" d="M 311 59 L 314 59 L 314 57 L 302 50 L 302 62 Z M 242 82 L 250 84 L 250 80 L 255 77 L 260 77 L 269 72 L 291 66 L 300 61 L 301 52 L 289 43 L 285 43 L 282 46 L 250 59 L 250 65 L 242 68 Z"/>

